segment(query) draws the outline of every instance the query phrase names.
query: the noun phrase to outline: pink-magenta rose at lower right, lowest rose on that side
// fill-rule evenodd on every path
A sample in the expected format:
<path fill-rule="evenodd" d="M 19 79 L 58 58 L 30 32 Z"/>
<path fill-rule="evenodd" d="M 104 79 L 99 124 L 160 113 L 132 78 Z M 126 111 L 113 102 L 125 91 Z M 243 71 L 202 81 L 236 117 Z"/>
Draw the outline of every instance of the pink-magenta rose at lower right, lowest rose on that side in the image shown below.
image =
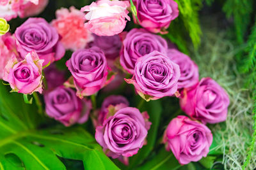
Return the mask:
<path fill-rule="evenodd" d="M 172 150 L 179 163 L 184 165 L 207 156 L 212 145 L 212 133 L 206 125 L 178 116 L 168 125 L 163 142 L 166 150 Z"/>

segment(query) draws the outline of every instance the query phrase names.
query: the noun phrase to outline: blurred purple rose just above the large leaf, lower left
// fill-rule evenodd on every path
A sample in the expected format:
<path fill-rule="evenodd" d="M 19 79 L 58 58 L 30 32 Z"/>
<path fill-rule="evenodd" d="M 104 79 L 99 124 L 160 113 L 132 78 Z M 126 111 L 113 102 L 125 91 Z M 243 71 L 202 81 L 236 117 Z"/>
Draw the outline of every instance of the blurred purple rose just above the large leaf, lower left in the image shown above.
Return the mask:
<path fill-rule="evenodd" d="M 65 126 L 83 124 L 92 110 L 90 100 L 79 99 L 74 90 L 63 86 L 45 94 L 44 101 L 47 115 Z"/>

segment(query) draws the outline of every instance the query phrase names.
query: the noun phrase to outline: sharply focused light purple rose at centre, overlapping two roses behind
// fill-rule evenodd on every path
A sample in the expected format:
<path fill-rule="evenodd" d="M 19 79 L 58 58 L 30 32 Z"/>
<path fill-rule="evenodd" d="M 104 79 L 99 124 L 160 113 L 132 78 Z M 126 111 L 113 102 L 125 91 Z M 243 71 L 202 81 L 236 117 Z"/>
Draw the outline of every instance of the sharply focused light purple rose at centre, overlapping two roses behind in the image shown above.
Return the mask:
<path fill-rule="evenodd" d="M 154 51 L 137 60 L 132 78 L 125 81 L 133 84 L 143 99 L 150 101 L 177 95 L 179 78 L 179 66 L 163 53 Z"/>

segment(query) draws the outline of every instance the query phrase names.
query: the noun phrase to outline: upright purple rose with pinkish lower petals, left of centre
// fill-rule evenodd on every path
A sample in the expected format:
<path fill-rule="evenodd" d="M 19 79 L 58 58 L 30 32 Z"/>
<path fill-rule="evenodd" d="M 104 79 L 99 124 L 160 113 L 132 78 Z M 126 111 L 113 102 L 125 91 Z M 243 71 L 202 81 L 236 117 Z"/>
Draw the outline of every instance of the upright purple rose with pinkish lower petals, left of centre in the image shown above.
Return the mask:
<path fill-rule="evenodd" d="M 66 65 L 74 78 L 77 96 L 91 96 L 107 85 L 114 76 L 107 80 L 108 65 L 100 48 L 77 50 L 72 53 Z M 68 82 L 65 83 L 67 86 Z M 71 85 L 72 86 L 72 85 Z"/>

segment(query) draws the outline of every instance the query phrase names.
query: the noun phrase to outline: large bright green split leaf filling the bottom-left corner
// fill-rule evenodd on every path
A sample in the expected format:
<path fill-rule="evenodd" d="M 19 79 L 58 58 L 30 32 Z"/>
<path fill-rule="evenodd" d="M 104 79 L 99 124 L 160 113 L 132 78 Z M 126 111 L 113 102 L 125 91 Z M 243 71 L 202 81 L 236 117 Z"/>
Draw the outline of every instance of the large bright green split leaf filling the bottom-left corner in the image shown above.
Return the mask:
<path fill-rule="evenodd" d="M 58 157 L 82 160 L 84 169 L 118 169 L 81 127 L 36 130 L 36 107 L 3 85 L 0 113 L 0 169 L 66 169 Z"/>

